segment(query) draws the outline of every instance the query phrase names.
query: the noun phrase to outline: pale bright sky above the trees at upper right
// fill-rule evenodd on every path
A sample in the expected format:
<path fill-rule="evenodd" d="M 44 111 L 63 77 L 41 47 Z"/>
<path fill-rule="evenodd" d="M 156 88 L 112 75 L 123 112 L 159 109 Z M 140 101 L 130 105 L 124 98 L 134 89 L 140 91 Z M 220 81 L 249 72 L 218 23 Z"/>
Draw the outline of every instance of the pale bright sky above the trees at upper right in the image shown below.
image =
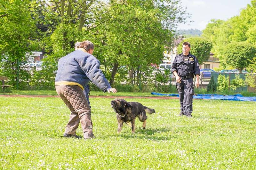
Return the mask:
<path fill-rule="evenodd" d="M 239 15 L 251 0 L 180 0 L 181 5 L 187 7 L 191 18 L 187 24 L 179 24 L 178 30 L 198 29 L 203 30 L 211 19 L 227 20 Z"/>

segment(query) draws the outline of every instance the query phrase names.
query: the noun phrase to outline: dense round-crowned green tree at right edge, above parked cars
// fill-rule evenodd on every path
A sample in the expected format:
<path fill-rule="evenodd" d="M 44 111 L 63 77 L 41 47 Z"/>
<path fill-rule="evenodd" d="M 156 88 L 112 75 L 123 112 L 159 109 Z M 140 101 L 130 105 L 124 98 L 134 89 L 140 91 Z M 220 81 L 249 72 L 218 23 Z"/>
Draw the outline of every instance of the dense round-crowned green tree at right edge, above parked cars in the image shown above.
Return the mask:
<path fill-rule="evenodd" d="M 224 48 L 224 53 L 227 63 L 242 73 L 242 70 L 251 64 L 256 56 L 256 47 L 247 42 L 235 42 L 228 44 Z"/>

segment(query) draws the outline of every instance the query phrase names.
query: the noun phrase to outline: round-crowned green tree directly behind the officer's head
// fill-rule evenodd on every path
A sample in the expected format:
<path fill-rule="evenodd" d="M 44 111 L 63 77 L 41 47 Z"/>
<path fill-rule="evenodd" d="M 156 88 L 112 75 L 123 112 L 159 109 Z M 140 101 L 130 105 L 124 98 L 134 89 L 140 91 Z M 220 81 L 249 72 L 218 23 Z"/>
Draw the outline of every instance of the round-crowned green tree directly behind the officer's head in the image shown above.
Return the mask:
<path fill-rule="evenodd" d="M 190 53 L 195 55 L 199 64 L 207 61 L 210 57 L 210 51 L 212 49 L 212 43 L 210 40 L 205 38 L 188 38 L 180 42 L 177 50 L 182 53 L 182 43 L 189 42 L 191 45 Z"/>

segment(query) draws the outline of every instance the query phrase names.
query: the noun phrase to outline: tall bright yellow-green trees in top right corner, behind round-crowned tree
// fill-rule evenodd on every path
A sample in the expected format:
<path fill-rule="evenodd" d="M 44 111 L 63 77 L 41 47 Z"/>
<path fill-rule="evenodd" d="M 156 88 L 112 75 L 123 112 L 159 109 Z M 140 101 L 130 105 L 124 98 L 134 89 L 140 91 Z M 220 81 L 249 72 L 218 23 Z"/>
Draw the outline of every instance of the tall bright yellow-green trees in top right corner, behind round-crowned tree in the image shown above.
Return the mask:
<path fill-rule="evenodd" d="M 231 42 L 246 41 L 256 45 L 256 0 L 252 0 L 240 15 L 229 18 L 227 21 L 212 19 L 203 30 L 203 37 L 212 41 L 212 53 L 220 59 L 221 67 L 229 67 L 224 47 Z"/>

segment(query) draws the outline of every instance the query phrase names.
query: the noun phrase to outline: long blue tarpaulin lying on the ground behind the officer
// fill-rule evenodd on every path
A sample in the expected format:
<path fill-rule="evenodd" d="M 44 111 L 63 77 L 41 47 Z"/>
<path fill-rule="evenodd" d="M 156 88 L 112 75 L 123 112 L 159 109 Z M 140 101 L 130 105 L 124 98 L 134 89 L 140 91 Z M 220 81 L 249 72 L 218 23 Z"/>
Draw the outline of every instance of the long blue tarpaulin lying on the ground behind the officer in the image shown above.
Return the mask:
<path fill-rule="evenodd" d="M 152 95 L 159 95 L 159 96 L 176 96 L 179 97 L 177 94 L 162 94 L 151 92 Z M 236 94 L 236 95 L 216 95 L 216 94 L 197 94 L 193 96 L 194 99 L 217 99 L 217 100 L 234 100 L 234 101 L 254 101 L 256 102 L 256 97 L 244 97 L 243 95 Z"/>

